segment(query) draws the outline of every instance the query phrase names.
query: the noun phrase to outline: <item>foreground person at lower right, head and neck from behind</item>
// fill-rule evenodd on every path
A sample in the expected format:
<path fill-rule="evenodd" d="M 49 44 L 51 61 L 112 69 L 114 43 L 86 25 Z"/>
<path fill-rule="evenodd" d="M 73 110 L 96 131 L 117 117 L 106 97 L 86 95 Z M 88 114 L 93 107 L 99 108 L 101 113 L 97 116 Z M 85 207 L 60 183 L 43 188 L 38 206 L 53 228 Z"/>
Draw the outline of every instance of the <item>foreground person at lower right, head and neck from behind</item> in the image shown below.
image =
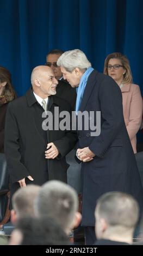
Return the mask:
<path fill-rule="evenodd" d="M 98 199 L 95 218 L 95 245 L 129 245 L 139 220 L 139 205 L 129 194 L 108 192 Z"/>

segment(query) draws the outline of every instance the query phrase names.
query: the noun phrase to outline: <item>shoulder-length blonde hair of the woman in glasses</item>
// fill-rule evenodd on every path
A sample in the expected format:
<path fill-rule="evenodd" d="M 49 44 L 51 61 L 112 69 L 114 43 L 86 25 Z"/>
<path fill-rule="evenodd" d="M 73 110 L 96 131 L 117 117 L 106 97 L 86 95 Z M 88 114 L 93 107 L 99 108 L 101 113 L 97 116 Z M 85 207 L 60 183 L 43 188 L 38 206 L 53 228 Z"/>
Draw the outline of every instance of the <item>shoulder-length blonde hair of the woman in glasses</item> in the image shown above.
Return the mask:
<path fill-rule="evenodd" d="M 126 73 L 123 75 L 123 83 L 132 83 L 132 71 L 130 70 L 128 58 L 120 52 L 113 52 L 107 56 L 104 62 L 104 74 L 108 75 L 108 62 L 110 59 L 120 59 L 120 62 L 123 66 L 123 69 L 126 70 Z"/>

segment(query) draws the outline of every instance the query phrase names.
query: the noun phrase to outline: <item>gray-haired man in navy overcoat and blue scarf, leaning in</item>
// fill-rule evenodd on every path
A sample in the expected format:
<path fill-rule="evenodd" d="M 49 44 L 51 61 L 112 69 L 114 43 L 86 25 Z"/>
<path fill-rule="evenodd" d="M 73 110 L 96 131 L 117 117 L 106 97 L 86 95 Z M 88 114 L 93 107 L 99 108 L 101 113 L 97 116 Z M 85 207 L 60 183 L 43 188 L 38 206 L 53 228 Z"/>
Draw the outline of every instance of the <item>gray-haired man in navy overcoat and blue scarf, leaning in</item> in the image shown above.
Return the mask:
<path fill-rule="evenodd" d="M 111 77 L 92 69 L 80 50 L 63 53 L 57 65 L 64 79 L 77 89 L 76 113 L 80 129 L 76 155 L 77 161 L 82 161 L 82 225 L 86 244 L 92 245 L 97 199 L 108 191 L 127 192 L 135 197 L 142 210 L 142 186 L 123 119 L 119 86 Z M 81 114 L 85 118 L 80 118 Z"/>

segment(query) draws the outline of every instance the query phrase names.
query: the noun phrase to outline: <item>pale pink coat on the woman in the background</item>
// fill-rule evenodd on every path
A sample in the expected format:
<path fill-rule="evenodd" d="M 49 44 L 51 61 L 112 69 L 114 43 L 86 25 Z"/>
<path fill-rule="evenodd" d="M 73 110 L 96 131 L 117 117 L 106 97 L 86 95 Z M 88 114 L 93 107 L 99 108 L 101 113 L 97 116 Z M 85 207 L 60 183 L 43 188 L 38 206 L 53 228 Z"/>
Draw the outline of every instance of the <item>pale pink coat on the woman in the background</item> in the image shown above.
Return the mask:
<path fill-rule="evenodd" d="M 132 144 L 136 153 L 136 133 L 140 129 L 142 119 L 142 97 L 137 84 L 124 84 L 121 88 L 123 99 L 123 117 Z"/>

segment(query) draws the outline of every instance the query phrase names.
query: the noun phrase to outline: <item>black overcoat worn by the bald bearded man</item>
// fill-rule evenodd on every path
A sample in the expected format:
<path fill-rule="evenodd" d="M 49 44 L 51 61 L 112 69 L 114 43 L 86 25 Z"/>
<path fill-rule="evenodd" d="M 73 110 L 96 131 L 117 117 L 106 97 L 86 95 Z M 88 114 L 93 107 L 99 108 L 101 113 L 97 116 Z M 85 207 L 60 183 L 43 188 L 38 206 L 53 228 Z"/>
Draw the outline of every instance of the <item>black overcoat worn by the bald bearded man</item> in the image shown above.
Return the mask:
<path fill-rule="evenodd" d="M 54 116 L 54 107 L 71 112 L 68 102 L 49 96 L 48 110 Z M 34 183 L 42 185 L 47 180 L 66 182 L 69 165 L 65 155 L 77 142 L 75 131 L 42 130 L 43 108 L 36 101 L 33 90 L 9 103 L 5 121 L 5 154 L 11 179 L 11 196 L 19 187 L 18 180 L 31 175 Z M 52 121 L 52 120 L 50 120 Z M 53 121 L 54 123 L 54 121 Z M 53 142 L 60 151 L 56 159 L 45 159 L 47 143 Z"/>

